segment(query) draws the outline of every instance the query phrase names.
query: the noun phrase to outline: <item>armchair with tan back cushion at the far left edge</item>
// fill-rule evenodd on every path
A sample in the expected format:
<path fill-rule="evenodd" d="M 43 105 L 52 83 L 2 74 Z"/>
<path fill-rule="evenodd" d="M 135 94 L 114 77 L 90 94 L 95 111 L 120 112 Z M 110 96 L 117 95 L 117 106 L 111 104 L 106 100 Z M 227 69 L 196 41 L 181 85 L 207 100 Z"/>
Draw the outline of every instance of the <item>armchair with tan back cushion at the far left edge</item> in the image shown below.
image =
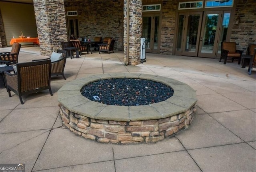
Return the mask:
<path fill-rule="evenodd" d="M 18 63 L 18 56 L 20 53 L 21 44 L 14 42 L 12 44 L 11 52 L 0 52 L 1 64 L 16 64 Z"/>

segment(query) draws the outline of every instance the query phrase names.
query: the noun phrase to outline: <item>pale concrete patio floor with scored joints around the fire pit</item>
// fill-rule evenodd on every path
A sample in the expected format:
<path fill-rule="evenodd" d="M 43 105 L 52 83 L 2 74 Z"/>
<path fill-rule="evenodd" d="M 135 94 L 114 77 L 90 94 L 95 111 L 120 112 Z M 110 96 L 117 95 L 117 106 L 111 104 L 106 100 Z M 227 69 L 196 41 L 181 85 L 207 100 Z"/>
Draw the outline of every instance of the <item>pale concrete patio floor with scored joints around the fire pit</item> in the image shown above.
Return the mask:
<path fill-rule="evenodd" d="M 0 48 L 8 52 L 11 47 Z M 22 46 L 19 62 L 41 59 L 39 47 Z M 124 66 L 123 52 L 82 54 L 67 59 L 48 90 L 8 96 L 0 89 L 0 163 L 24 163 L 26 171 L 50 172 L 234 172 L 256 171 L 256 70 L 237 62 L 147 54 L 146 62 Z M 92 74 L 130 72 L 180 80 L 197 92 L 192 125 L 155 144 L 102 144 L 62 126 L 57 91 Z"/>

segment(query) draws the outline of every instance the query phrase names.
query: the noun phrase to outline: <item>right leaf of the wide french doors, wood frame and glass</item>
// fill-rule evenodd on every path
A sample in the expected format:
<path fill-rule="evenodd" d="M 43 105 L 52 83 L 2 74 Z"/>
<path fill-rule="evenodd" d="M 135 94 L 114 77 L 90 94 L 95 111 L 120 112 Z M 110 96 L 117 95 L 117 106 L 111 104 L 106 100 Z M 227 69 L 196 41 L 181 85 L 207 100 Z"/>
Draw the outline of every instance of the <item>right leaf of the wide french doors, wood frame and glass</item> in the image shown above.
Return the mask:
<path fill-rule="evenodd" d="M 215 58 L 218 51 L 221 12 L 204 12 L 198 57 Z"/>

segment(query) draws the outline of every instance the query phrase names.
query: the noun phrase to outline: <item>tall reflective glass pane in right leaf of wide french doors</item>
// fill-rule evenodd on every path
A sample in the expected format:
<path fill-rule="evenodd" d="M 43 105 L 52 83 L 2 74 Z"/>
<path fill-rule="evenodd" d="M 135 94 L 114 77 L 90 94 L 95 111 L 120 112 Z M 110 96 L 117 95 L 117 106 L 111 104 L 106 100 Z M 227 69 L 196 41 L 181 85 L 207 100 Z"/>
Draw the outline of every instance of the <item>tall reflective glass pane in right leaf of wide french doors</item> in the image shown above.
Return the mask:
<path fill-rule="evenodd" d="M 219 14 L 206 14 L 205 25 L 204 25 L 204 35 L 202 39 L 202 53 L 213 52 L 214 38 L 216 35 L 217 23 Z"/>

